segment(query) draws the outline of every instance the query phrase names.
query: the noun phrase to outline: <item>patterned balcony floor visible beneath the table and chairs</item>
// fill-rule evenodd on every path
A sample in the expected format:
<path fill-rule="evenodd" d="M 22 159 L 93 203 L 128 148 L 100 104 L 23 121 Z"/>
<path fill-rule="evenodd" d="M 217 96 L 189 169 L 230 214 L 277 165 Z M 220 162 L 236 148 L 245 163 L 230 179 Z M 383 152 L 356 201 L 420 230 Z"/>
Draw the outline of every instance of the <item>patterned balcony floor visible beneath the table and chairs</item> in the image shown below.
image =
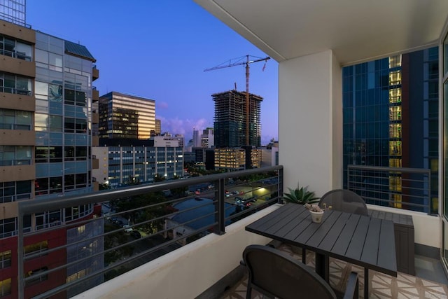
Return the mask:
<path fill-rule="evenodd" d="M 289 245 L 281 244 L 278 249 L 302 260 L 300 253 L 295 253 Z M 297 251 L 297 252 L 299 252 Z M 314 267 L 314 253 L 307 251 L 307 265 Z M 423 256 L 415 257 L 416 276 L 398 272 L 398 277 L 391 277 L 381 272 L 370 270 L 370 298 L 448 298 L 448 281 L 438 260 Z M 351 271 L 359 274 L 359 296 L 364 298 L 364 269 L 356 265 L 330 258 L 330 285 L 335 290 L 343 290 L 345 281 Z M 247 276 L 225 292 L 221 299 L 246 298 Z M 253 290 L 252 298 L 263 298 Z"/>

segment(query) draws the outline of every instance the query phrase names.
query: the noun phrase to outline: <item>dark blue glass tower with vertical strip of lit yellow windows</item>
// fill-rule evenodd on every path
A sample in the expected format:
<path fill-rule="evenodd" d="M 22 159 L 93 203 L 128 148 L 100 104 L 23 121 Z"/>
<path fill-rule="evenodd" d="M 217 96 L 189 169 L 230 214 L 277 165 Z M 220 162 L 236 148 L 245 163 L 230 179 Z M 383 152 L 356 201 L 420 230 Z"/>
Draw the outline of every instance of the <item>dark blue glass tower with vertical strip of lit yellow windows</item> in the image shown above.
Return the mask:
<path fill-rule="evenodd" d="M 430 169 L 430 202 L 403 199 L 399 174 L 383 194 L 437 211 L 438 76 L 437 47 L 344 67 L 345 187 L 347 165 Z"/>

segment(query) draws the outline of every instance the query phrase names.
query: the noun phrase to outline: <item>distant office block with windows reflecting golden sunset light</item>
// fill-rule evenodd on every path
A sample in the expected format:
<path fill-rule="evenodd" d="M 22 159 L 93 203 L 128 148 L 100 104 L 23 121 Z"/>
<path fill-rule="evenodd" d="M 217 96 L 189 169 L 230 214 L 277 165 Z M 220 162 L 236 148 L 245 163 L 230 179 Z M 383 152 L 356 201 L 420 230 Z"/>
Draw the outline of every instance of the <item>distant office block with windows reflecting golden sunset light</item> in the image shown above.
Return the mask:
<path fill-rule="evenodd" d="M 155 100 L 109 92 L 99 98 L 99 138 L 149 139 L 155 132 Z"/>

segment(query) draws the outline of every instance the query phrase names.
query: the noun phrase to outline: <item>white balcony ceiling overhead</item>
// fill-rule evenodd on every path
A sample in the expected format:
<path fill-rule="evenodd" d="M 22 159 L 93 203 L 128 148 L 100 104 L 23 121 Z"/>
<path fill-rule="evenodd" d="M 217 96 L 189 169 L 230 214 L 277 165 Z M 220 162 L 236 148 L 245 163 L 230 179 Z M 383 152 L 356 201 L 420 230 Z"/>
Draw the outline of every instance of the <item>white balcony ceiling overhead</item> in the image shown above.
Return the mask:
<path fill-rule="evenodd" d="M 342 65 L 436 45 L 448 0 L 194 0 L 281 62 L 332 49 Z"/>

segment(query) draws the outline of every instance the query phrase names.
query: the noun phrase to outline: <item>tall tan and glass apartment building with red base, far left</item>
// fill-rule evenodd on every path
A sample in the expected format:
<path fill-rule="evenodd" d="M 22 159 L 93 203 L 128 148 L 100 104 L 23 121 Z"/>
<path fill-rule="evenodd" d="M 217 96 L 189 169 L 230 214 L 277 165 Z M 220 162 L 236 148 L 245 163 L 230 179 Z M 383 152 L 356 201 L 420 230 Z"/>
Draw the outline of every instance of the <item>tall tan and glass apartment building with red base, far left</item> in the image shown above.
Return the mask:
<path fill-rule="evenodd" d="M 3 18 L 8 12 L 8 18 Z M 96 140 L 92 125 L 98 118 L 92 110 L 99 98 L 92 90 L 92 81 L 99 77 L 95 59 L 79 43 L 25 26 L 22 13 L 25 1 L 0 4 L 1 18 L 10 21 L 0 20 L 0 297 L 9 298 L 18 298 L 16 201 L 59 200 L 62 195 L 87 193 L 97 187 L 92 181 L 95 161 L 90 154 Z M 27 215 L 27 231 L 38 232 L 62 223 L 71 226 L 24 239 L 25 253 L 48 251 L 25 261 L 26 276 L 85 256 L 80 253 L 83 246 L 92 249 L 90 254 L 101 253 L 102 238 L 82 240 L 101 233 L 102 225 L 94 221 L 93 226 L 80 225 L 82 230 L 76 225 L 92 218 L 93 213 L 91 205 L 83 205 Z M 73 242 L 75 246 L 70 245 Z M 64 245 L 68 247 L 51 250 Z M 97 255 L 66 270 L 36 276 L 27 284 L 25 297 L 82 277 L 92 267 L 102 265 L 103 258 Z"/>

